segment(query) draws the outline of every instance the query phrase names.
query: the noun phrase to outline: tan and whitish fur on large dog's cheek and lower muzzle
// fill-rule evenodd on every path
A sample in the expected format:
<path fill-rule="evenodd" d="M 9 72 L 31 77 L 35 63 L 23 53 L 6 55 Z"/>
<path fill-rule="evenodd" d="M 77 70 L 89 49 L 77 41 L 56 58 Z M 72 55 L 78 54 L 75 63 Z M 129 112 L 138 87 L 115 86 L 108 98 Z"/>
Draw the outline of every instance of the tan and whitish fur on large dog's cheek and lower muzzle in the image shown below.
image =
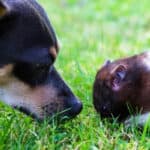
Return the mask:
<path fill-rule="evenodd" d="M 50 85 L 31 88 L 12 76 L 12 69 L 12 65 L 1 68 L 0 100 L 10 106 L 24 108 L 38 119 L 64 109 L 64 101 L 58 97 L 55 88 Z"/>

